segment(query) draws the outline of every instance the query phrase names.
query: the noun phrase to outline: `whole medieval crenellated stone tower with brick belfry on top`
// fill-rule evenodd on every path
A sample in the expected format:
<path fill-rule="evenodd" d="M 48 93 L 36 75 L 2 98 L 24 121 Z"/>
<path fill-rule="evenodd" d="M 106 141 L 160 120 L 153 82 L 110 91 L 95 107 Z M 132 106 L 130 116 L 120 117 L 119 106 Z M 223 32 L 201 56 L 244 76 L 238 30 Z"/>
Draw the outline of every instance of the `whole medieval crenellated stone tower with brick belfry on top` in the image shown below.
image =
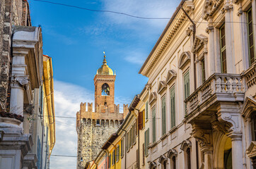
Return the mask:
<path fill-rule="evenodd" d="M 103 65 L 94 77 L 95 111 L 93 104 L 80 104 L 76 113 L 77 169 L 84 168 L 86 162 L 92 161 L 100 152 L 101 146 L 110 134 L 120 126 L 123 114 L 127 114 L 128 105 L 124 105 L 124 113 L 120 113 L 119 105 L 115 105 L 115 73 L 108 67 L 104 55 Z"/>

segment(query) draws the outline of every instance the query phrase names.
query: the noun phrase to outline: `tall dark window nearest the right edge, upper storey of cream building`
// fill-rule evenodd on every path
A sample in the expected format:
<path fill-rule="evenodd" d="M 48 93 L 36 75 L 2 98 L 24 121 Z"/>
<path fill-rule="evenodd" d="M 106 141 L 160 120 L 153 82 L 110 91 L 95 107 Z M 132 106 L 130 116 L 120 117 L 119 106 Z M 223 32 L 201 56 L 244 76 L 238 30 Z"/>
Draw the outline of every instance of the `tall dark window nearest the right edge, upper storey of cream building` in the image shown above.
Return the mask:
<path fill-rule="evenodd" d="M 248 46 L 249 46 L 249 65 L 255 62 L 255 42 L 253 35 L 252 8 L 247 12 L 248 23 Z"/>

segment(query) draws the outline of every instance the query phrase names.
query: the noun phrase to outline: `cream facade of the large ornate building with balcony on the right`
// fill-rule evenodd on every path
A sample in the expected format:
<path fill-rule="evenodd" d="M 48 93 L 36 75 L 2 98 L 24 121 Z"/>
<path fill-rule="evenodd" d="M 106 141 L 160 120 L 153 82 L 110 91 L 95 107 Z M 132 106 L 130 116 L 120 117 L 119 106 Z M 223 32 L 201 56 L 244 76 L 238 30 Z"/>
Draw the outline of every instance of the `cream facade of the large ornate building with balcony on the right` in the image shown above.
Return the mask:
<path fill-rule="evenodd" d="M 256 1 L 182 1 L 149 77 L 149 168 L 256 168 Z"/>

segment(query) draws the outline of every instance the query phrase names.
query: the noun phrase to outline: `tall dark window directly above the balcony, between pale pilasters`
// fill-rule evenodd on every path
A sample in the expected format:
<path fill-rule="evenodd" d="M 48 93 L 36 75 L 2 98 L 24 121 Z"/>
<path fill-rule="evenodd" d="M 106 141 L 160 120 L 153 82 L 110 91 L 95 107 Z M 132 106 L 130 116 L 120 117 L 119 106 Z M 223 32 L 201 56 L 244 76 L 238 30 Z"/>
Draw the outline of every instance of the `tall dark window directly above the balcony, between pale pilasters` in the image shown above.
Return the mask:
<path fill-rule="evenodd" d="M 220 28 L 221 73 L 227 73 L 225 24 Z"/>

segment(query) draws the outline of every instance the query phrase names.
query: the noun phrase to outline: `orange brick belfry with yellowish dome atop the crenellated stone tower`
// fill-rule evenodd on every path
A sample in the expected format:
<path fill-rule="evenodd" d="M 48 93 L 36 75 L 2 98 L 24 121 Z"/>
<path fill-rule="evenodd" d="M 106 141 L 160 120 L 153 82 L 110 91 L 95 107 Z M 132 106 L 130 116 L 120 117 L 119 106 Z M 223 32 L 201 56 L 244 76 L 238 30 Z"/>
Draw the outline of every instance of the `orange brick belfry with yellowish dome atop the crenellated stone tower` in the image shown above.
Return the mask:
<path fill-rule="evenodd" d="M 95 87 L 95 110 L 99 108 L 101 113 L 105 113 L 105 107 L 114 107 L 115 74 L 113 73 L 112 69 L 109 68 L 107 65 L 105 53 L 104 53 L 103 65 L 101 65 L 101 67 L 97 70 L 97 73 L 94 77 L 94 87 Z M 113 112 L 110 112 L 110 113 L 113 113 Z"/>

